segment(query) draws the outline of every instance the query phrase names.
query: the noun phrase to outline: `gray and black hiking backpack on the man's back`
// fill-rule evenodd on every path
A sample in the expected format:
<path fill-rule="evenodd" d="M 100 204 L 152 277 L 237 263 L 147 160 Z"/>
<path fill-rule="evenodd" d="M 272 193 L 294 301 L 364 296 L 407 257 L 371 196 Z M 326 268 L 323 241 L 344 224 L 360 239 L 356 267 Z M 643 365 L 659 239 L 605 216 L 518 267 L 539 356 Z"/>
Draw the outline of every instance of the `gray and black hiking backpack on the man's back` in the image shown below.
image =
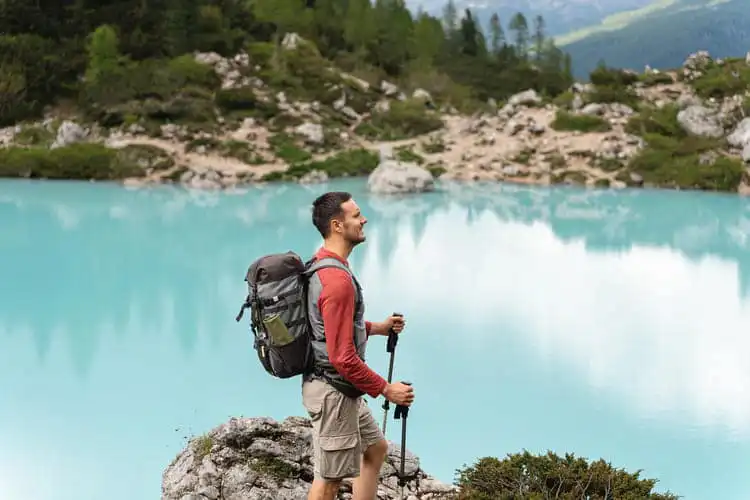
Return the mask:
<path fill-rule="evenodd" d="M 248 295 L 235 319 L 239 322 L 250 309 L 253 347 L 263 368 L 274 377 L 294 377 L 312 369 L 308 282 L 326 267 L 346 269 L 336 259 L 303 262 L 289 251 L 260 257 L 247 270 Z"/>

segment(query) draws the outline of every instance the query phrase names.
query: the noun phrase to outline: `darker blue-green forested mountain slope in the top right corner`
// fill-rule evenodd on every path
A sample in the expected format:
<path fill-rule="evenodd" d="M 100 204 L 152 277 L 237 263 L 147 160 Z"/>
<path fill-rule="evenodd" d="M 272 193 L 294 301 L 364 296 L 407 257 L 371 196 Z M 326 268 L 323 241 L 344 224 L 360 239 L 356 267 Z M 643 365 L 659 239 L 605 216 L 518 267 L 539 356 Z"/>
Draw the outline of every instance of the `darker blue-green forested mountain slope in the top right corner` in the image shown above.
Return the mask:
<path fill-rule="evenodd" d="M 597 62 L 631 68 L 673 68 L 698 50 L 744 57 L 750 50 L 750 0 L 663 0 L 557 39 L 576 77 Z"/>

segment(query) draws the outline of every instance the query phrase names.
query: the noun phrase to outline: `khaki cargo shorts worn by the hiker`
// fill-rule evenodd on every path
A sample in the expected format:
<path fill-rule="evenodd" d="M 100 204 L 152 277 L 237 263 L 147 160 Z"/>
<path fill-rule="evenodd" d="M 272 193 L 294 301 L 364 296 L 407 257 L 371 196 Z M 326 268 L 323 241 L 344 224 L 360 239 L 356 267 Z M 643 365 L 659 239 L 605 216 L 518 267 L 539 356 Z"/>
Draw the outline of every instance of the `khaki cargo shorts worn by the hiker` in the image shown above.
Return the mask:
<path fill-rule="evenodd" d="M 383 439 L 365 399 L 349 398 L 314 379 L 302 384 L 302 404 L 312 420 L 315 477 L 359 476 L 362 454 Z"/>

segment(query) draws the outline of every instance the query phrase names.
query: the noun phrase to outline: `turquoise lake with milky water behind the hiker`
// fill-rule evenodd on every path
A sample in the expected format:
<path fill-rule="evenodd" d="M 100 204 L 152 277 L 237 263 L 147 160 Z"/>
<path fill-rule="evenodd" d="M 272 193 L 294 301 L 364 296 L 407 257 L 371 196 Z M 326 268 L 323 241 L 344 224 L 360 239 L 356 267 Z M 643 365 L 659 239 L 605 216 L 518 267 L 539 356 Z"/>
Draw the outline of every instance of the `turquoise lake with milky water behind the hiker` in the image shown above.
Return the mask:
<path fill-rule="evenodd" d="M 395 377 L 414 383 L 408 447 L 428 472 L 550 449 L 686 499 L 748 498 L 750 200 L 499 184 L 391 199 L 362 180 L 0 182 L 0 498 L 158 499 L 189 436 L 303 415 L 299 381 L 266 375 L 234 317 L 253 259 L 318 248 L 310 204 L 332 189 L 369 218 L 351 258 L 367 317 L 406 315 Z M 384 340 L 368 362 L 385 375 Z"/>

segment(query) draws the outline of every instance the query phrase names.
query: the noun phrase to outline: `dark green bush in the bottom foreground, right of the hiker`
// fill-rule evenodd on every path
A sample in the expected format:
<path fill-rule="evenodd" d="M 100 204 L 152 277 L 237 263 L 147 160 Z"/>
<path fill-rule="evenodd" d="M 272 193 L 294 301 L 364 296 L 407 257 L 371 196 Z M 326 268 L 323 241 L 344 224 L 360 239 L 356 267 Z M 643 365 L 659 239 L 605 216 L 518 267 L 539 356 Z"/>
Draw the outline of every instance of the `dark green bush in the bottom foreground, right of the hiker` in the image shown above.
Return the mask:
<path fill-rule="evenodd" d="M 604 460 L 552 452 L 532 455 L 528 451 L 479 459 L 457 470 L 456 484 L 462 500 L 589 498 L 677 500 L 670 492 L 654 493 L 655 479 L 641 479 L 640 471 L 628 473 Z"/>

